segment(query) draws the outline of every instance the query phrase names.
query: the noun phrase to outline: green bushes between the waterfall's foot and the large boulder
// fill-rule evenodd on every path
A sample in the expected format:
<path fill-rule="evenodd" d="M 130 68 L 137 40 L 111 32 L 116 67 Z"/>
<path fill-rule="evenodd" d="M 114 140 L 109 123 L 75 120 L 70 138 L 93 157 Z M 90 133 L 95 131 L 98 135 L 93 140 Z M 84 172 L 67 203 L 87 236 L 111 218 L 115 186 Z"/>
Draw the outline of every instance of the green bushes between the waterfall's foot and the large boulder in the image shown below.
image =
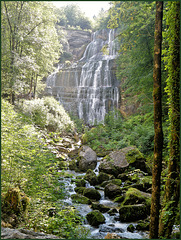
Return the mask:
<path fill-rule="evenodd" d="M 98 124 L 91 130 L 85 129 L 83 135 L 93 150 L 119 150 L 136 146 L 142 153 L 149 155 L 153 151 L 154 128 L 153 114 L 132 116 L 123 120 L 118 112 L 105 117 L 105 125 Z"/>

